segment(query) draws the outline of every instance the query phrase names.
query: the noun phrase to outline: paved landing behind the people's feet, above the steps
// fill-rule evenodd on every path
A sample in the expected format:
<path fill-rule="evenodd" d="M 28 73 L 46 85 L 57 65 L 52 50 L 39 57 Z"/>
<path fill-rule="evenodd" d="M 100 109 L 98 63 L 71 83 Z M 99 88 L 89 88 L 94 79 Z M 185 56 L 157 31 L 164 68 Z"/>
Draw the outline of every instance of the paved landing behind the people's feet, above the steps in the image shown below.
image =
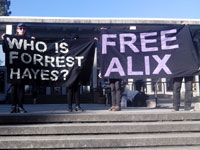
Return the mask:
<path fill-rule="evenodd" d="M 194 105 L 194 104 L 193 104 Z M 10 104 L 1 104 L 0 105 L 0 114 L 8 114 L 10 112 Z M 153 113 L 153 112 L 171 112 L 172 110 L 172 100 L 171 99 L 160 99 L 158 100 L 157 108 L 147 108 L 147 107 L 126 107 L 122 108 L 120 112 L 111 112 L 108 111 L 109 105 L 105 106 L 104 104 L 82 104 L 81 107 L 85 110 L 83 113 Z M 25 104 L 24 108 L 30 114 L 36 113 L 68 113 L 67 104 Z M 180 112 L 183 111 L 183 104 L 180 109 Z M 75 112 L 74 112 L 75 113 Z"/>

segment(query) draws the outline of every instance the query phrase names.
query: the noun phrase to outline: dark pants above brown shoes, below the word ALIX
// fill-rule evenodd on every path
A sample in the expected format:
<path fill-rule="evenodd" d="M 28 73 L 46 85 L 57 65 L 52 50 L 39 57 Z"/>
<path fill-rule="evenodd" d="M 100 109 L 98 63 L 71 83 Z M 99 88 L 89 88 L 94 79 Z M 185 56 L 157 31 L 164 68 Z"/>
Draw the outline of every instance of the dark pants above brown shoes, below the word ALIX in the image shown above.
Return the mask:
<path fill-rule="evenodd" d="M 118 79 L 110 79 L 112 106 L 120 106 L 121 102 L 121 81 Z"/>

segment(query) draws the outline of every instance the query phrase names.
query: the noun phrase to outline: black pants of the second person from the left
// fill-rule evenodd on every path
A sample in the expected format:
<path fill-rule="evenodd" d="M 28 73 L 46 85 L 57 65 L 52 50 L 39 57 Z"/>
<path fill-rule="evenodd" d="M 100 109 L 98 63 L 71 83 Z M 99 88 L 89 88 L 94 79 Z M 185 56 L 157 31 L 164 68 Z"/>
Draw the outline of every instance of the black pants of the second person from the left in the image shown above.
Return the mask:
<path fill-rule="evenodd" d="M 76 106 L 80 106 L 80 86 L 73 85 L 67 88 L 68 107 L 72 108 L 72 101 L 75 99 Z"/>

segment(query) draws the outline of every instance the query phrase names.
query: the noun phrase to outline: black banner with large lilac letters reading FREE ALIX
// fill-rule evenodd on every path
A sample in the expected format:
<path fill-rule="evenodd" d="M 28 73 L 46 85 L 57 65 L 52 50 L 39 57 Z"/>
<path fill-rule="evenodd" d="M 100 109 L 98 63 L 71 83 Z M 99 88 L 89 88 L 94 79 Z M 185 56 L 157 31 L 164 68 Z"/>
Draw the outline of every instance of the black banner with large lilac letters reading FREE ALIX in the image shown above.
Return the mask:
<path fill-rule="evenodd" d="M 170 78 L 193 75 L 198 69 L 188 26 L 104 30 L 100 42 L 104 78 Z"/>

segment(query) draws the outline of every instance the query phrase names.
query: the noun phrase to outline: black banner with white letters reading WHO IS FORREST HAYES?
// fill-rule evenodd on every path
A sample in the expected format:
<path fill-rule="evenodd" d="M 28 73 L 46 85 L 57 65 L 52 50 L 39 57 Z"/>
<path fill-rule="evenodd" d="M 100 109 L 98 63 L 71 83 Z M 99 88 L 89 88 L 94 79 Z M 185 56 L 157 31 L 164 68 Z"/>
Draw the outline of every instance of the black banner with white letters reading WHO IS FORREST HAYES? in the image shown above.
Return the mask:
<path fill-rule="evenodd" d="M 95 42 L 61 40 L 45 42 L 6 35 L 4 39 L 8 81 L 44 86 L 71 86 L 90 80 Z"/>

